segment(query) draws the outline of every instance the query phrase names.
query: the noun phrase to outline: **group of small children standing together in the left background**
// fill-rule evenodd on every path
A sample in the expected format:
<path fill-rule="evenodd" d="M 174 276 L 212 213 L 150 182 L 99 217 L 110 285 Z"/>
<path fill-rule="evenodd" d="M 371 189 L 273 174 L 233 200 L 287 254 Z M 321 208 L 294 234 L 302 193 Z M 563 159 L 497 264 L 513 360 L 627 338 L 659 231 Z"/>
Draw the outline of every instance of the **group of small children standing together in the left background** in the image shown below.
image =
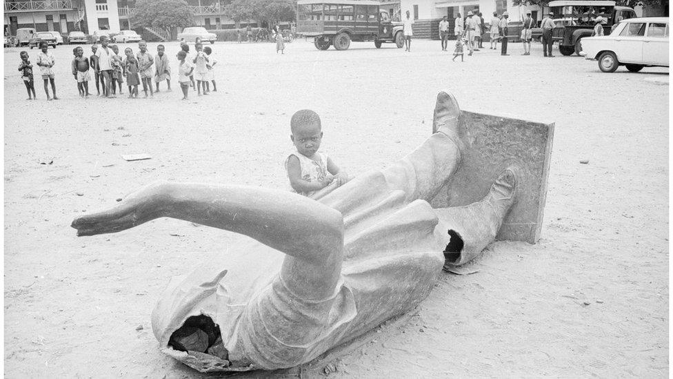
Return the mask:
<path fill-rule="evenodd" d="M 132 48 L 125 48 L 122 58 L 119 55 L 119 47 L 116 45 L 108 46 L 107 37 L 101 37 L 101 46 L 91 46 L 93 54 L 90 57 L 84 56 L 84 49 L 81 46 L 72 49 L 74 59 L 72 60 L 72 75 L 77 81 L 77 90 L 81 97 L 90 96 L 88 82 L 92 79 L 90 69 L 93 70 L 93 79 L 96 84 L 96 90 L 99 96 L 114 97 L 123 95 L 122 84 L 124 80 L 128 86 L 128 97 L 138 97 L 138 86 L 142 84 L 145 97 L 154 96 L 154 92 L 159 92 L 159 84 L 166 82 L 170 92 L 170 65 L 168 56 L 165 55 L 165 46 L 157 46 L 157 55 L 152 55 L 147 50 L 147 43 L 139 41 L 139 52 L 136 55 Z M 48 100 L 58 99 L 56 96 L 56 84 L 54 84 L 54 55 L 48 51 L 46 42 L 39 44 L 41 52 L 37 57 L 37 66 L 40 68 L 42 79 L 44 80 L 44 90 Z M 213 90 L 217 91 L 215 86 L 213 66 L 217 63 L 211 56 L 210 47 L 203 48 L 201 41 L 197 39 L 195 45 L 196 54 L 192 57 L 189 54 L 187 43 L 181 43 L 181 50 L 178 52 L 179 60 L 179 83 L 183 92 L 183 99 L 187 99 L 190 86 L 197 87 L 199 96 L 210 93 L 210 83 Z M 33 66 L 28 57 L 28 52 L 22 51 L 21 79 L 26 85 L 28 99 L 36 99 L 33 77 Z M 197 83 L 194 84 L 194 76 L 197 77 Z M 152 90 L 152 80 L 156 86 L 156 91 Z M 49 94 L 49 84 L 51 84 L 53 98 Z M 202 91 L 203 90 L 203 91 Z"/>

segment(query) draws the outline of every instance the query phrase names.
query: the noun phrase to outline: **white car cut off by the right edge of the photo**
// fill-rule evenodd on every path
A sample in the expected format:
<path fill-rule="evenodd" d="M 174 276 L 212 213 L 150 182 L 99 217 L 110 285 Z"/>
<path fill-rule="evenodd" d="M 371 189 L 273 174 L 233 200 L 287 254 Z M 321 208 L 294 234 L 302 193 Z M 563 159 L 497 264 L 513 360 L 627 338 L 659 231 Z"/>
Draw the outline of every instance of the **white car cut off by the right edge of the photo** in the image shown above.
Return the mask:
<path fill-rule="evenodd" d="M 580 55 L 598 59 L 603 72 L 626 66 L 632 72 L 643 67 L 668 67 L 668 17 L 626 19 L 610 35 L 582 39 Z"/>

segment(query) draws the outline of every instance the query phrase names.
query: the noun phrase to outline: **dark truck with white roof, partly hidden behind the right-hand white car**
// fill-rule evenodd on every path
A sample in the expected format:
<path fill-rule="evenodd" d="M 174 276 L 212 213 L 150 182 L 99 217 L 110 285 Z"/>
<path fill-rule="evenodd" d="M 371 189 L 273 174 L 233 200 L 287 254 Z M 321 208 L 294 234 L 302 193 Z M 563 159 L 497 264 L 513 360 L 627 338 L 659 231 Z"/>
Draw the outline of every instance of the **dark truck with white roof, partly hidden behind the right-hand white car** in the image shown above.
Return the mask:
<path fill-rule="evenodd" d="M 572 25 L 556 25 L 552 30 L 552 40 L 559 43 L 559 51 L 563 55 L 580 55 L 582 39 L 591 37 L 594 32 L 596 17 L 603 17 L 605 34 L 619 21 L 636 17 L 633 8 L 616 6 L 614 1 L 606 0 L 556 0 L 550 1 L 550 11 L 556 16 L 569 17 L 574 20 Z"/>

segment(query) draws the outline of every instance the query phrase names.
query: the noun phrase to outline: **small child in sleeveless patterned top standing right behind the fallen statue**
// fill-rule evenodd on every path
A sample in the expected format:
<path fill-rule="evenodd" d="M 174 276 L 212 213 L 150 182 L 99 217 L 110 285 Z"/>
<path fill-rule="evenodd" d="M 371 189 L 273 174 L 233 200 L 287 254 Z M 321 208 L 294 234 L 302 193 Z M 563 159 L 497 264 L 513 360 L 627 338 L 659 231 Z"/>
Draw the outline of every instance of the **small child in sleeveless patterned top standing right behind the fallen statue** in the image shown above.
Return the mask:
<path fill-rule="evenodd" d="M 297 153 L 285 159 L 290 185 L 294 192 L 311 197 L 322 188 L 348 182 L 348 175 L 339 170 L 324 153 L 318 153 L 323 138 L 320 117 L 312 110 L 299 110 L 290 120 L 292 144 Z"/>

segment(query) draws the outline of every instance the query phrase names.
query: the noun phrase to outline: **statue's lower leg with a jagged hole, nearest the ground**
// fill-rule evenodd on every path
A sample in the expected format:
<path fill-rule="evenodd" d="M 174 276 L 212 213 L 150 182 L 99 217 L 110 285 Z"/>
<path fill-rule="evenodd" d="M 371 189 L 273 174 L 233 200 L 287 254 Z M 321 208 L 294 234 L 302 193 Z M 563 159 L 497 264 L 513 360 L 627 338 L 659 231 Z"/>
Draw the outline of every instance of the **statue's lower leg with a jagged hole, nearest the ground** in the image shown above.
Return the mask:
<path fill-rule="evenodd" d="M 496 235 L 516 201 L 516 187 L 521 171 L 509 166 L 498 176 L 483 200 L 467 206 L 436 209 L 442 231 L 450 235 L 444 251 L 445 269 L 474 259 L 495 240 Z"/>

